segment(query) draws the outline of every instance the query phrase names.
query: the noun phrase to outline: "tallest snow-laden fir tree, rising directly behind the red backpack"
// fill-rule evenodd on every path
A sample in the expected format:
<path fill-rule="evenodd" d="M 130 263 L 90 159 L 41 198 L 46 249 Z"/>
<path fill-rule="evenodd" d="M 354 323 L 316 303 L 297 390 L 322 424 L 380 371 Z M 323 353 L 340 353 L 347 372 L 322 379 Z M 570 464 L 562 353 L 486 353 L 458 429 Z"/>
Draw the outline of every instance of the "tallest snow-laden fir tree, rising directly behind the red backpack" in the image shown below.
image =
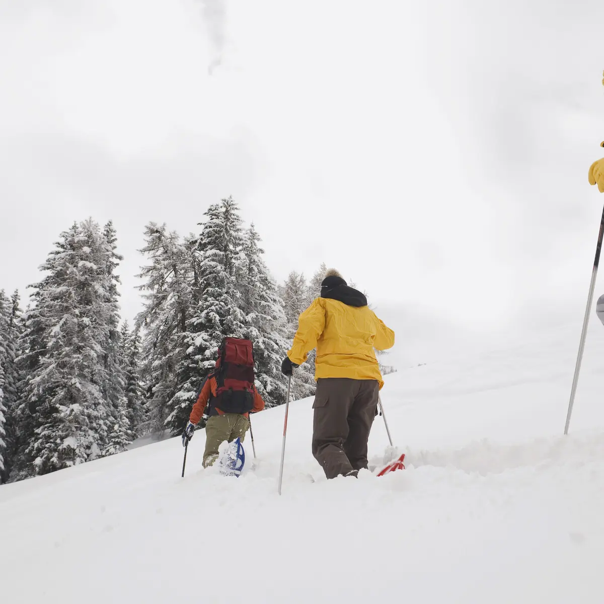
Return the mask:
<path fill-rule="evenodd" d="M 187 352 L 178 369 L 178 391 L 170 401 L 172 413 L 166 424 L 173 433 L 187 424 L 196 393 L 204 377 L 213 370 L 216 351 L 225 336 L 242 338 L 245 317 L 236 281 L 242 275 L 242 219 L 233 198 L 211 205 L 199 236 L 201 254 L 198 296 L 194 316 L 185 335 Z"/>

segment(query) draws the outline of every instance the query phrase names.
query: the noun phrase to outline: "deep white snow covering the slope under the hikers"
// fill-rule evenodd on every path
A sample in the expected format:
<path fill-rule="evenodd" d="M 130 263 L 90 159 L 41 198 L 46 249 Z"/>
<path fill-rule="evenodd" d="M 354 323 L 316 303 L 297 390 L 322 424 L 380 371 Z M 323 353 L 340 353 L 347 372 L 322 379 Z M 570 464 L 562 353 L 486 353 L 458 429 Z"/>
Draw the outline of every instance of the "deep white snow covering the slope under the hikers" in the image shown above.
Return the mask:
<path fill-rule="evenodd" d="M 252 418 L 258 458 L 252 469 L 246 439 L 239 479 L 202 469 L 199 431 L 184 479 L 180 439 L 169 439 L 2 486 L 0 600 L 604 602 L 595 320 L 562 435 L 579 331 L 387 376 L 382 400 L 407 469 L 382 478 L 324 479 L 307 399 L 290 408 L 281 496 L 284 408 Z M 371 463 L 387 445 L 376 417 Z"/>

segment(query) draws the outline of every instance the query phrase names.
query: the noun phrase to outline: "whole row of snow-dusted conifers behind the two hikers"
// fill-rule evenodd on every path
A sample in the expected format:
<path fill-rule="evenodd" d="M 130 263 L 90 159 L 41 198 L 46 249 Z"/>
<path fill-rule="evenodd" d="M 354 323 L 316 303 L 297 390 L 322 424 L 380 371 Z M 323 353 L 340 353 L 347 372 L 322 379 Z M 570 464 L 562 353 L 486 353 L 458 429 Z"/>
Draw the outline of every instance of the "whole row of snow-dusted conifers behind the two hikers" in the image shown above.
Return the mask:
<path fill-rule="evenodd" d="M 181 237 L 146 226 L 143 310 L 132 326 L 120 316 L 111 222 L 60 234 L 25 310 L 17 292 L 0 291 L 0 482 L 178 434 L 227 335 L 254 342 L 257 388 L 267 406 L 284 403 L 281 361 L 325 267 L 308 283 L 292 272 L 277 285 L 232 198 L 211 205 L 199 227 Z M 313 354 L 295 372 L 294 399 L 314 393 Z"/>

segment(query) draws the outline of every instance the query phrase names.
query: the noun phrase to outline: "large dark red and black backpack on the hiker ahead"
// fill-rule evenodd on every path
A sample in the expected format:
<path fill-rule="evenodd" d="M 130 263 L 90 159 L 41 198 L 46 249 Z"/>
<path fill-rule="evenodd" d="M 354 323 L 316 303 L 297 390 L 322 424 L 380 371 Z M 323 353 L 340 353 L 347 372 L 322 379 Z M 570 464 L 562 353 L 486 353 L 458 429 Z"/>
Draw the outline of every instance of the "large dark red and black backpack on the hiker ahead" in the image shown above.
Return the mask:
<path fill-rule="evenodd" d="M 216 361 L 216 397 L 211 404 L 225 413 L 254 408 L 254 349 L 248 339 L 225 338 Z"/>

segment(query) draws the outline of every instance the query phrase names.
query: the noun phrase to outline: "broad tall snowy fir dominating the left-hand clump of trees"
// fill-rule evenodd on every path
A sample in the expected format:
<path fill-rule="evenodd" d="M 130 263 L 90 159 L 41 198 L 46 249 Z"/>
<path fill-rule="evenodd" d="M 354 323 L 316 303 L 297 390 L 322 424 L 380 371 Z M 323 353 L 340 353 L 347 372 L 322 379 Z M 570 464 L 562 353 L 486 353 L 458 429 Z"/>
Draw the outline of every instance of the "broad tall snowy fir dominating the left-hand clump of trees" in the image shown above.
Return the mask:
<path fill-rule="evenodd" d="M 25 332 L 34 343 L 25 359 L 34 365 L 18 411 L 30 431 L 20 449 L 21 475 L 94 459 L 108 445 L 104 346 L 114 304 L 106 246 L 92 220 L 74 224 L 40 267 L 48 275 L 33 286 L 36 307 Z"/>

